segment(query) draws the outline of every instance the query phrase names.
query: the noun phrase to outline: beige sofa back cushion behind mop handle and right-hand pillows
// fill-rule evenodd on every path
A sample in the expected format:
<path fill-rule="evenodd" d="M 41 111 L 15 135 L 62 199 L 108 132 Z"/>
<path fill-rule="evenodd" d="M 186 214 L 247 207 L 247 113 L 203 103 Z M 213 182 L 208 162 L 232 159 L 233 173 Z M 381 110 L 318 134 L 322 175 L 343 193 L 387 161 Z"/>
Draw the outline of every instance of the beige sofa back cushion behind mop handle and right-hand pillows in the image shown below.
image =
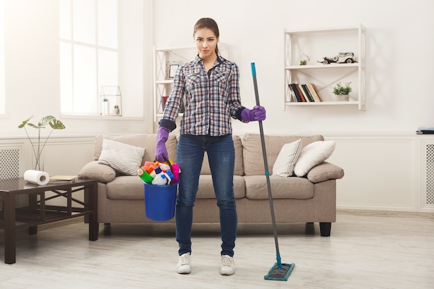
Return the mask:
<path fill-rule="evenodd" d="M 267 151 L 268 172 L 272 173 L 277 155 L 285 143 L 291 143 L 302 139 L 303 147 L 314 141 L 323 141 L 321 135 L 296 136 L 296 135 L 265 135 Z M 260 134 L 244 134 L 243 136 L 243 168 L 245 175 L 264 175 L 263 154 Z"/>

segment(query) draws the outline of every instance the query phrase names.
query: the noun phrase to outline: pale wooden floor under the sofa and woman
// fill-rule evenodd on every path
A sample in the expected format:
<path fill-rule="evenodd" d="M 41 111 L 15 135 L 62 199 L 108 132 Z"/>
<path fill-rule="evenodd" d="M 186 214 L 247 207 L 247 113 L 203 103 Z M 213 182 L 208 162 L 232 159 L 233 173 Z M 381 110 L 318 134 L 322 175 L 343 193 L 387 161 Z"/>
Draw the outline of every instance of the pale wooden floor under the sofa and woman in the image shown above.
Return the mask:
<path fill-rule="evenodd" d="M 193 272 L 175 272 L 174 226 L 100 226 L 74 222 L 19 231 L 17 263 L 0 263 L 0 288 L 434 288 L 434 214 L 339 211 L 331 237 L 319 226 L 278 225 L 284 263 L 295 263 L 288 281 L 266 281 L 275 263 L 272 227 L 238 225 L 236 274 L 220 276 L 218 225 L 193 227 Z M 0 231 L 3 262 L 3 231 Z"/>

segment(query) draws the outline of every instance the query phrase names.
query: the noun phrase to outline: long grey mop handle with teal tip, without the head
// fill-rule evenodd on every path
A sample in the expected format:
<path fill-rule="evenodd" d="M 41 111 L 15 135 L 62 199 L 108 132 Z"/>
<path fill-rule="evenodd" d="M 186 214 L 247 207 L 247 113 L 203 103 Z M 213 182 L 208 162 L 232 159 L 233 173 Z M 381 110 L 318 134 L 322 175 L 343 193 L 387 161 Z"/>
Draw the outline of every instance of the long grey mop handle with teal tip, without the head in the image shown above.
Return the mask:
<path fill-rule="evenodd" d="M 254 96 L 257 100 L 257 105 L 259 106 L 259 92 L 258 92 L 258 83 L 257 83 L 257 70 L 254 66 L 254 62 L 251 64 L 252 67 L 252 77 L 253 77 L 253 85 L 254 85 Z M 263 154 L 263 166 L 266 171 L 267 178 L 267 188 L 268 188 L 268 198 L 270 199 L 270 211 L 271 211 L 271 220 L 272 220 L 272 230 L 275 235 L 275 245 L 276 245 L 276 253 L 277 253 L 277 263 L 279 265 L 279 269 L 281 268 L 280 261 L 280 252 L 279 252 L 279 241 L 277 240 L 277 229 L 276 229 L 276 220 L 275 220 L 275 209 L 272 204 L 272 195 L 271 195 L 271 184 L 270 184 L 270 172 L 268 172 L 268 161 L 266 154 L 266 142 L 263 136 L 263 127 L 262 121 L 259 121 L 259 132 L 261 134 L 261 145 L 262 145 L 262 154 Z"/>

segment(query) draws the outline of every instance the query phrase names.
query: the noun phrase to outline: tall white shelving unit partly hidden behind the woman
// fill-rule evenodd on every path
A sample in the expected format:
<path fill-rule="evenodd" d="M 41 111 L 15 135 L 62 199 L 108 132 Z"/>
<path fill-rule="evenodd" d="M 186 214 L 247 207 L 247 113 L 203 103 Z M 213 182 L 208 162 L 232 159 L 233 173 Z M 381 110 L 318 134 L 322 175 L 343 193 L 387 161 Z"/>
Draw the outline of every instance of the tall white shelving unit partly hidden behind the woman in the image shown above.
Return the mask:
<path fill-rule="evenodd" d="M 219 42 L 218 49 L 227 58 L 228 46 Z M 154 122 L 163 115 L 164 98 L 171 94 L 177 65 L 192 61 L 196 54 L 196 46 L 154 47 Z"/>

